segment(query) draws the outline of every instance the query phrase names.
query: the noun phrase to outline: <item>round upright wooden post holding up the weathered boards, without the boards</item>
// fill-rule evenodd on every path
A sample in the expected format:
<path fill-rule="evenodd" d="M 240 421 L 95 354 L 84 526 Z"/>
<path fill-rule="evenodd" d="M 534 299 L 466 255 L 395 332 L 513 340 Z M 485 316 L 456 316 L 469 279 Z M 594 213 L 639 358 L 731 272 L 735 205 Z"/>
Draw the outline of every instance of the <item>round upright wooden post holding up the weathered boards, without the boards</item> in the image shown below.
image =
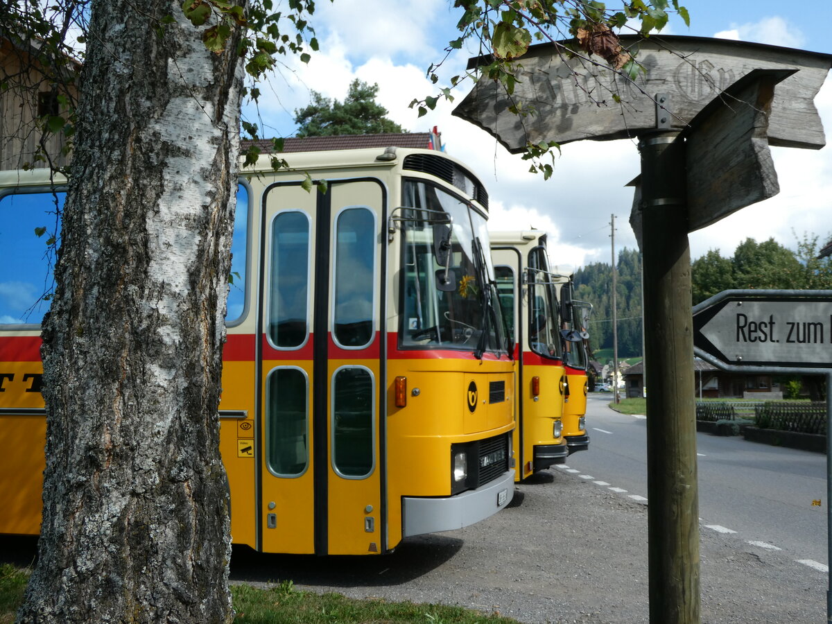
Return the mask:
<path fill-rule="evenodd" d="M 700 622 L 691 251 L 677 136 L 644 133 L 639 143 L 651 624 Z"/>

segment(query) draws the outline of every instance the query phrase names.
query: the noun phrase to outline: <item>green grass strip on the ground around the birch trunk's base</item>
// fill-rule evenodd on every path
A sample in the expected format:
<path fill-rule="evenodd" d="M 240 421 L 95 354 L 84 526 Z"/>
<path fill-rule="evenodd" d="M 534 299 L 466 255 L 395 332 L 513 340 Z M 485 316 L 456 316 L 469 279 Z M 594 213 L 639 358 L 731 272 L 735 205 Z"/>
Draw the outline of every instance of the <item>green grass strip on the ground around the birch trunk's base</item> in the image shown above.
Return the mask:
<path fill-rule="evenodd" d="M 0 624 L 14 622 L 23 600 L 28 572 L 4 563 L 0 565 Z M 355 600 L 336 593 L 302 592 L 291 581 L 269 589 L 250 585 L 231 587 L 234 621 L 239 624 L 517 624 L 517 620 L 463 607 Z"/>

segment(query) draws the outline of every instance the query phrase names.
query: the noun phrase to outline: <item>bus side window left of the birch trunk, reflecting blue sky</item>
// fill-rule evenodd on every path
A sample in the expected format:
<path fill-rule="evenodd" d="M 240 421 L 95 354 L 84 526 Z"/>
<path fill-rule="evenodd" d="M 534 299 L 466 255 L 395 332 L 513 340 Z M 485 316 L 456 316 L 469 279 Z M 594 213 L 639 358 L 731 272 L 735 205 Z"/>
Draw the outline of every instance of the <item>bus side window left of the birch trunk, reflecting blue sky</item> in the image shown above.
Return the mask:
<path fill-rule="evenodd" d="M 0 196 L 0 324 L 40 324 L 49 310 L 52 269 L 66 193 Z M 37 233 L 36 233 L 37 232 Z"/>

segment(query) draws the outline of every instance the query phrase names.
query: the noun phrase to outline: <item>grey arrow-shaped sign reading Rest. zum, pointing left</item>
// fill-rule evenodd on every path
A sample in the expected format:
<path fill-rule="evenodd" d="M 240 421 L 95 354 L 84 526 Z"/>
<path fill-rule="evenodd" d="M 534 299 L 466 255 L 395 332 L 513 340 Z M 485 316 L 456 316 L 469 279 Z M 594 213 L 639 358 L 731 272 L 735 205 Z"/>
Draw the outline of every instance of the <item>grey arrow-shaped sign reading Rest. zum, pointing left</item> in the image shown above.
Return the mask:
<path fill-rule="evenodd" d="M 832 369 L 832 290 L 725 290 L 693 326 L 696 353 L 725 364 Z"/>

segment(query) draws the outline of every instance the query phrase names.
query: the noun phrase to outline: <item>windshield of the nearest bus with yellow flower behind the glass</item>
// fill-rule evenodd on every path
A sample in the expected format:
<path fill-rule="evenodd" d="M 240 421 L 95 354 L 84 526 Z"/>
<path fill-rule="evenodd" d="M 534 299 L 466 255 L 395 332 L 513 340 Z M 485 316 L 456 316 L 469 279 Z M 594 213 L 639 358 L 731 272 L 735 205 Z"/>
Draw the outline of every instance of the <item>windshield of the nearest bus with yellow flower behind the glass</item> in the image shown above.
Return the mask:
<path fill-rule="evenodd" d="M 506 353 L 486 220 L 425 181 L 405 181 L 404 348 Z"/>

